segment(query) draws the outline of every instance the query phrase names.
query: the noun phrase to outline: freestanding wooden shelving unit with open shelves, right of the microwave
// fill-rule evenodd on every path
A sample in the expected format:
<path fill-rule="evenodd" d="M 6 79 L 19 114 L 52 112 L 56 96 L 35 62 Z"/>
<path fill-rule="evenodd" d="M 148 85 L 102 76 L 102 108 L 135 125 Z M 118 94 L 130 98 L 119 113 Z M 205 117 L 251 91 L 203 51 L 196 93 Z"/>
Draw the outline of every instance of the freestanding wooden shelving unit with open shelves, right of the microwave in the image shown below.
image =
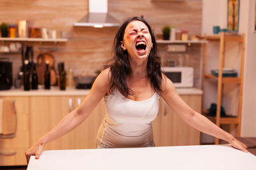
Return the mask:
<path fill-rule="evenodd" d="M 219 74 L 214 76 L 213 74 L 205 73 L 205 52 L 206 44 L 203 45 L 203 61 L 202 61 L 202 89 L 204 90 L 204 81 L 207 79 L 218 81 L 218 98 L 217 98 L 217 111 L 216 117 L 208 117 L 212 122 L 214 122 L 218 127 L 221 124 L 228 124 L 230 128 L 237 127 L 236 137 L 240 136 L 241 132 L 241 106 L 242 106 L 242 95 L 243 95 L 243 74 L 244 74 L 244 43 L 245 43 L 245 34 L 242 36 L 229 36 L 225 35 L 225 32 L 221 32 L 220 36 L 205 36 L 207 41 L 219 41 L 220 42 L 220 55 L 219 55 Z M 225 43 L 228 41 L 239 42 L 241 43 L 241 63 L 240 63 L 240 77 L 223 77 L 223 67 L 225 60 Z M 238 94 L 238 111 L 237 117 L 221 117 L 221 99 L 223 96 L 223 84 L 225 83 L 236 83 L 239 87 Z M 215 144 L 219 144 L 220 141 L 218 138 L 215 139 Z"/>

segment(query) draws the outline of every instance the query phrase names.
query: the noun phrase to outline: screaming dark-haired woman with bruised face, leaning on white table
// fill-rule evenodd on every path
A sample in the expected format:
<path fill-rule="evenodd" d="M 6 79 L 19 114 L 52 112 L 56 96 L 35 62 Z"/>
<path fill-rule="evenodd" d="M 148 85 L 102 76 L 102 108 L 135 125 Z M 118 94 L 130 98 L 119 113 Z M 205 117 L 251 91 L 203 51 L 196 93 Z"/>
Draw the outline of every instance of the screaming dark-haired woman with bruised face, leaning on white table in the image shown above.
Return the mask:
<path fill-rule="evenodd" d="M 223 139 L 247 152 L 246 146 L 192 110 L 161 71 L 156 39 L 150 25 L 140 17 L 124 21 L 115 36 L 115 57 L 104 69 L 83 103 L 68 113 L 50 132 L 26 152 L 39 159 L 44 145 L 81 124 L 99 101 L 106 101 L 106 116 L 97 135 L 97 148 L 154 146 L 152 121 L 157 117 L 159 97 L 198 131 Z"/>

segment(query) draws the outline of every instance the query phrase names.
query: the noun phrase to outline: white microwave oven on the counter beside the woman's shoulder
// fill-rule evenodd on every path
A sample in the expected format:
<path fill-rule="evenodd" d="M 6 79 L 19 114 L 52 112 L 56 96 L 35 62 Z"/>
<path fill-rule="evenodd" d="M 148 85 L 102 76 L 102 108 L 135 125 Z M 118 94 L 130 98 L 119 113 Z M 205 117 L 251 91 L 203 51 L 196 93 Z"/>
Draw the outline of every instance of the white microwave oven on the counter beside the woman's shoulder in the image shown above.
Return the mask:
<path fill-rule="evenodd" d="M 193 87 L 193 67 L 162 67 L 162 70 L 175 87 Z"/>

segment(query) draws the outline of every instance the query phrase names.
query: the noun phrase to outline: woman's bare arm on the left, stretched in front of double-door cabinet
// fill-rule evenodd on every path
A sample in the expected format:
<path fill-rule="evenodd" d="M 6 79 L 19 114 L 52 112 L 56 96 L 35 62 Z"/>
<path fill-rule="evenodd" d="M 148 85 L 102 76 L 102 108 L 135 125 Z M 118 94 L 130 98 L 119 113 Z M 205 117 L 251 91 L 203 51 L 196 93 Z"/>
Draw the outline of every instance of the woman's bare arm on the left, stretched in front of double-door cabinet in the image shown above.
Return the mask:
<path fill-rule="evenodd" d="M 46 143 L 53 141 L 54 139 L 60 138 L 64 134 L 72 131 L 77 125 L 81 124 L 93 111 L 93 109 L 100 102 L 102 97 L 108 92 L 109 84 L 109 69 L 105 69 L 96 78 L 93 83 L 92 89 L 88 96 L 85 97 L 83 103 L 80 104 L 75 110 L 71 111 L 66 115 L 51 131 L 47 132 L 42 138 L 40 138 L 35 145 L 31 146 L 25 153 L 27 162 L 31 155 L 35 155 L 36 159 L 39 159 L 43 147 Z"/>

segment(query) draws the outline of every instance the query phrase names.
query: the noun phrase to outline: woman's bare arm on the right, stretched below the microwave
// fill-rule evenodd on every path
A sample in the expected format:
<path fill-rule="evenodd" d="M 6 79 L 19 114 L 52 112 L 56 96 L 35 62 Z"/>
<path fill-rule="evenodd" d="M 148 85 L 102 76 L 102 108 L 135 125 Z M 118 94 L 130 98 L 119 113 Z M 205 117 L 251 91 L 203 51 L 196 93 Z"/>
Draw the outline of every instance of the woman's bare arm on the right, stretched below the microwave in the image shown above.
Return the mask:
<path fill-rule="evenodd" d="M 198 131 L 210 134 L 216 138 L 223 139 L 234 146 L 234 148 L 243 150 L 243 152 L 247 152 L 246 145 L 238 141 L 228 132 L 220 129 L 220 127 L 212 123 L 208 118 L 191 109 L 188 104 L 186 104 L 179 97 L 172 81 L 166 78 L 166 76 L 163 78 L 162 87 L 164 101 L 166 101 L 166 103 L 173 109 L 173 111 L 177 113 L 177 115 L 179 115 L 179 117 L 181 117 L 186 123 Z"/>

